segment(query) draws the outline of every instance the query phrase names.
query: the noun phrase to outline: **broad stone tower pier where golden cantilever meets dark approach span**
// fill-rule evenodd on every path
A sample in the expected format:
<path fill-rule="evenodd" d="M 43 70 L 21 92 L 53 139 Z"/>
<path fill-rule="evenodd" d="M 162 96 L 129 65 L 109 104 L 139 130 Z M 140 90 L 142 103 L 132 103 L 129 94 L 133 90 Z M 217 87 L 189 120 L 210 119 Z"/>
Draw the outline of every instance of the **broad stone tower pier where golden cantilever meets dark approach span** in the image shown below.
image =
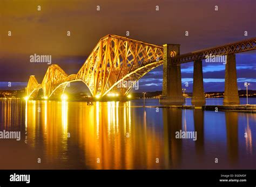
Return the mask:
<path fill-rule="evenodd" d="M 179 55 L 179 44 L 164 45 L 163 92 L 160 103 L 167 105 L 182 105 L 180 64 L 171 64 L 171 57 Z"/>

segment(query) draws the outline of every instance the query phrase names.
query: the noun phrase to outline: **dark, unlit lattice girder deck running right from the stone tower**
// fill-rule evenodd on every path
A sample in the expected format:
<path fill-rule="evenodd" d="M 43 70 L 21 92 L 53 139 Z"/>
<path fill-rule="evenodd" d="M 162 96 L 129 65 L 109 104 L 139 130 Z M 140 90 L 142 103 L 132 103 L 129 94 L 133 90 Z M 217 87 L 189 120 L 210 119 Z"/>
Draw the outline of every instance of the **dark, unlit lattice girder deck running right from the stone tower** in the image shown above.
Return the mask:
<path fill-rule="evenodd" d="M 251 38 L 248 40 L 243 40 L 239 42 L 234 42 L 231 44 L 226 44 L 218 47 L 207 48 L 200 51 L 195 51 L 191 53 L 186 53 L 178 55 L 172 58 L 171 62 L 173 64 L 192 62 L 195 60 L 203 60 L 206 56 L 211 55 L 227 55 L 232 53 L 241 53 L 246 51 L 251 51 L 256 49 L 256 38 Z"/>

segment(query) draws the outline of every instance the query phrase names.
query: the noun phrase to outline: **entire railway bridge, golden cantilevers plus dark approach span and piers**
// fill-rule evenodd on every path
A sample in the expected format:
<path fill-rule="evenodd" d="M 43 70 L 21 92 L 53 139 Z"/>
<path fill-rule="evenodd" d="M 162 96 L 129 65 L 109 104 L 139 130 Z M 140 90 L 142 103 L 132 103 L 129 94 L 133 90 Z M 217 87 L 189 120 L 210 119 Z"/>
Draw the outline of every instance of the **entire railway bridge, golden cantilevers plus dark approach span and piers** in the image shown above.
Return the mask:
<path fill-rule="evenodd" d="M 44 98 L 60 97 L 70 82 L 82 81 L 93 97 L 109 92 L 127 95 L 133 84 L 150 70 L 164 65 L 163 93 L 160 102 L 182 105 L 180 64 L 194 61 L 192 104 L 204 105 L 202 60 L 207 55 L 227 55 L 224 104 L 239 104 L 235 53 L 256 49 L 256 39 L 234 42 L 180 55 L 180 45 L 157 46 L 118 35 L 106 35 L 99 40 L 77 74 L 68 75 L 57 64 L 49 66 L 41 84 L 34 75 L 29 78 L 26 98 L 37 96 L 42 89 Z M 129 87 L 124 82 L 132 82 Z"/>

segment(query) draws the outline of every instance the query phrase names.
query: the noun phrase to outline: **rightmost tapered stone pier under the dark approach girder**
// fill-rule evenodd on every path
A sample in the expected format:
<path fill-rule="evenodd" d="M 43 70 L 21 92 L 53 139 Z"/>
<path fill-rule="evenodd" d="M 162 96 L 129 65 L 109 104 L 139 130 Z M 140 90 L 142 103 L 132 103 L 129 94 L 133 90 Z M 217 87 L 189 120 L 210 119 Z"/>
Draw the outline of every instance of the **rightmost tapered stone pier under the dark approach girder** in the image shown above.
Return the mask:
<path fill-rule="evenodd" d="M 225 92 L 224 105 L 239 104 L 239 95 L 237 88 L 237 67 L 235 65 L 235 54 L 228 54 L 225 69 Z"/>

